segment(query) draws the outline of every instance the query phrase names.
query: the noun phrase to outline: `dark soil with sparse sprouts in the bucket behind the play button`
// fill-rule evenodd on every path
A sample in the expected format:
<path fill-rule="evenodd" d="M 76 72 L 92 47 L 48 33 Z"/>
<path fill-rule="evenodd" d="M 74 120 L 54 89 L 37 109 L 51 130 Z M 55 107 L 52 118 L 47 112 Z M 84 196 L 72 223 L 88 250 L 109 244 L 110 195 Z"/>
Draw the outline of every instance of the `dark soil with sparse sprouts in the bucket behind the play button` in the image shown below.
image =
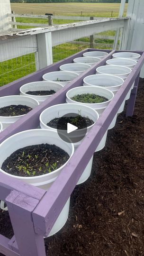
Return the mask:
<path fill-rule="evenodd" d="M 89 127 L 94 123 L 93 120 L 87 117 L 81 117 L 80 115 L 77 115 L 76 117 L 54 118 L 49 123 L 47 123 L 47 126 L 50 126 L 52 128 L 57 128 L 58 122 L 59 122 L 59 129 L 62 129 L 62 130 L 67 130 L 67 123 L 77 126 L 78 129 Z"/>

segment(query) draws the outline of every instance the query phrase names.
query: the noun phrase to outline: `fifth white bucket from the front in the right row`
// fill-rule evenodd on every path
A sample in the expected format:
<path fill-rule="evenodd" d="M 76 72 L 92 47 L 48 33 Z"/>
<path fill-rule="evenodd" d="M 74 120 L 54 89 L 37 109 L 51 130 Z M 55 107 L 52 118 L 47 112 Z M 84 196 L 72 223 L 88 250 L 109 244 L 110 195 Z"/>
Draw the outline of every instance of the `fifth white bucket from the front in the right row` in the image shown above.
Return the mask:
<path fill-rule="evenodd" d="M 128 67 L 124 66 L 100 66 L 96 69 L 97 74 L 111 74 L 111 75 L 116 75 L 122 79 L 126 79 L 126 77 L 131 73 L 131 69 Z"/>

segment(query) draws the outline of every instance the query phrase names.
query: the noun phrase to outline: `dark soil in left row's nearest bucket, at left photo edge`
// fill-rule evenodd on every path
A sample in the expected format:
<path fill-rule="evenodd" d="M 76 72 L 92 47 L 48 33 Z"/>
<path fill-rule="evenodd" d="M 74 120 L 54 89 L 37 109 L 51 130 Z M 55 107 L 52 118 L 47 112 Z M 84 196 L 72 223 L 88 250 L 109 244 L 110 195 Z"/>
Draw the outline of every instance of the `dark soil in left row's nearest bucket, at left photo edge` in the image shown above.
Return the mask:
<path fill-rule="evenodd" d="M 10 105 L 0 108 L 0 116 L 2 117 L 14 117 L 27 114 L 32 108 L 26 105 Z"/>

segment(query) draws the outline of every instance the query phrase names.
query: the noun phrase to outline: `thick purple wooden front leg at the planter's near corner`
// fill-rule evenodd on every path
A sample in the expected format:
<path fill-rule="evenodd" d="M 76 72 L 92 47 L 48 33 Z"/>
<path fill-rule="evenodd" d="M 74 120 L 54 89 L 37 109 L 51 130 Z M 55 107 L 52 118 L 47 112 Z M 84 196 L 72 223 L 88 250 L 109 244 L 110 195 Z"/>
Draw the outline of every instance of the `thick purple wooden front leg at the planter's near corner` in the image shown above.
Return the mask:
<path fill-rule="evenodd" d="M 15 190 L 6 198 L 20 256 L 45 256 L 43 234 L 35 233 L 32 219 L 32 212 L 38 202 L 39 200 Z"/>

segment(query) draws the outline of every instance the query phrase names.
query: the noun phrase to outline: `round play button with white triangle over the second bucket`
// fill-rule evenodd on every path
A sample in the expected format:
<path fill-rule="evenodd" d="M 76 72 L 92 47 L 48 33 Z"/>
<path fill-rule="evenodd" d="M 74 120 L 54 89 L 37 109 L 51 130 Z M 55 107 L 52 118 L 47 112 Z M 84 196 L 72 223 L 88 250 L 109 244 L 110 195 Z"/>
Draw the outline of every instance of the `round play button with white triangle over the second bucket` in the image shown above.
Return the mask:
<path fill-rule="evenodd" d="M 86 135 L 87 123 L 81 115 L 68 113 L 58 119 L 57 132 L 64 141 L 76 143 Z"/>

